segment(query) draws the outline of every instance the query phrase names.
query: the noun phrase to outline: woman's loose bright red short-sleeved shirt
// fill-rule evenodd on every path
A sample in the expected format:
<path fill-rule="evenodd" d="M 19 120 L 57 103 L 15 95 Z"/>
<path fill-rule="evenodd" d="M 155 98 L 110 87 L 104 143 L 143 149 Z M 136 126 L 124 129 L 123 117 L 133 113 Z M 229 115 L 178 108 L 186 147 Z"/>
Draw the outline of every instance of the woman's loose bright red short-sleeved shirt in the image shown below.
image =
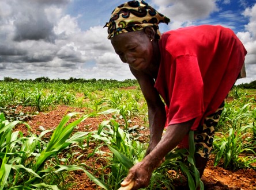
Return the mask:
<path fill-rule="evenodd" d="M 167 106 L 167 126 L 214 113 L 236 82 L 246 49 L 231 29 L 190 26 L 162 34 L 155 88 Z"/>

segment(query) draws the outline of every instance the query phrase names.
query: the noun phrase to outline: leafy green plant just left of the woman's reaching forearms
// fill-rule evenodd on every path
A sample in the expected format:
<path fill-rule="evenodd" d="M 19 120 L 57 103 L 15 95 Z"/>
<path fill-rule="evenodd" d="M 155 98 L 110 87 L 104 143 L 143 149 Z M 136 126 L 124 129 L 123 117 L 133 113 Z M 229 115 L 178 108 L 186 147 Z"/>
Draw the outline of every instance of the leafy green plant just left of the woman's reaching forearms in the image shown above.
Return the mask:
<path fill-rule="evenodd" d="M 108 146 L 113 154 L 107 154 L 109 164 L 105 168 L 110 168 L 111 173 L 107 176 L 107 184 L 112 189 L 118 189 L 120 183 L 126 177 L 128 169 L 133 163 L 141 161 L 145 154 L 145 147 L 138 141 L 134 141 L 133 135 L 129 133 L 129 128 L 123 130 L 114 119 L 104 121 L 100 124 L 99 130 L 91 135 L 91 141 L 100 141 L 104 144 L 97 146 L 95 153 L 101 146 Z M 93 156 L 93 155 L 91 155 Z M 106 176 L 102 176 L 105 179 Z"/>

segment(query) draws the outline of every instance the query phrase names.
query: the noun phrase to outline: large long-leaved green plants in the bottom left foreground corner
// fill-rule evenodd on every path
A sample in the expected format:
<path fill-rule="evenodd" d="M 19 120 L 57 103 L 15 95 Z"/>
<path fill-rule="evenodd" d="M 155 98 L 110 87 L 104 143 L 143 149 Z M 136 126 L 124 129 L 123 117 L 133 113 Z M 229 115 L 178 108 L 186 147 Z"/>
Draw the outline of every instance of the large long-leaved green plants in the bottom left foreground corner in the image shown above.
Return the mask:
<path fill-rule="evenodd" d="M 84 168 L 76 165 L 59 165 L 58 155 L 71 144 L 78 144 L 86 138 L 88 133 L 77 132 L 71 135 L 74 127 L 91 115 L 83 115 L 71 123 L 67 123 L 77 113 L 70 113 L 63 117 L 51 135 L 50 141 L 43 141 L 43 136 L 49 130 L 43 131 L 39 136 L 30 134 L 24 137 L 20 131 L 13 131 L 18 121 L 9 122 L 0 114 L 0 189 L 33 189 L 51 188 L 59 189 L 62 177 L 56 177 L 56 184 L 46 184 L 47 176 L 69 170 L 84 170 L 96 184 L 106 186 L 102 181 L 95 179 Z M 29 128 L 29 126 L 27 125 Z M 71 137 L 70 137 L 71 136 Z M 52 181 L 50 181 L 52 183 Z M 108 188 L 106 188 L 108 189 Z"/>

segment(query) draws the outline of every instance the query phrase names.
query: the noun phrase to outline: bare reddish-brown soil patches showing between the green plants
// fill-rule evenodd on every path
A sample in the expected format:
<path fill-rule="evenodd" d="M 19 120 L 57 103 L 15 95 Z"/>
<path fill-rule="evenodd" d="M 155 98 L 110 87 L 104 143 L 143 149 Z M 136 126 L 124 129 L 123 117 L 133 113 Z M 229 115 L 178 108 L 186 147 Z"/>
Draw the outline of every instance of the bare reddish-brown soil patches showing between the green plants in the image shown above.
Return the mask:
<path fill-rule="evenodd" d="M 23 110 L 24 111 L 24 110 Z M 25 112 L 25 111 L 24 111 Z M 48 113 L 39 113 L 38 115 L 33 116 L 27 123 L 32 127 L 33 133 L 40 133 L 40 126 L 43 126 L 44 129 L 54 129 L 58 126 L 59 122 L 64 115 L 70 112 L 80 112 L 88 113 L 88 110 L 82 108 L 74 108 L 69 106 L 58 106 L 54 110 L 49 111 Z M 80 123 L 76 128 L 76 131 L 93 131 L 97 130 L 99 124 L 109 119 L 111 116 L 98 115 L 97 117 L 88 118 L 84 122 Z M 132 125 L 143 125 L 143 121 L 140 121 L 138 118 L 133 118 Z M 144 123 L 145 125 L 145 123 Z M 21 130 L 23 133 L 27 133 L 27 128 L 24 126 L 17 126 L 16 130 Z M 145 135 L 144 140 L 147 140 L 149 131 L 144 130 Z M 142 139 L 143 140 L 143 139 Z M 90 145 L 90 148 L 93 150 L 93 145 Z M 76 150 L 77 151 L 77 150 Z M 81 150 L 81 154 L 86 154 L 86 151 Z M 87 153 L 88 154 L 88 153 Z M 90 158 L 85 160 L 85 158 L 80 157 L 80 162 L 85 162 L 87 165 L 92 165 L 92 162 L 95 162 L 96 158 Z M 84 159 L 84 160 L 83 160 Z M 98 161 L 100 159 L 97 159 Z M 103 160 L 101 160 L 103 162 Z M 101 164 L 102 164 L 101 162 Z M 109 172 L 109 171 L 103 171 Z M 214 167 L 212 161 L 209 161 L 207 168 L 205 169 L 202 181 L 205 184 L 205 189 L 244 189 L 244 190 L 255 190 L 256 189 L 256 171 L 253 169 L 241 169 L 237 171 L 229 171 L 220 167 Z M 67 177 L 66 183 L 73 184 L 69 189 L 100 189 L 92 181 L 88 179 L 85 173 L 72 172 L 70 176 Z"/>

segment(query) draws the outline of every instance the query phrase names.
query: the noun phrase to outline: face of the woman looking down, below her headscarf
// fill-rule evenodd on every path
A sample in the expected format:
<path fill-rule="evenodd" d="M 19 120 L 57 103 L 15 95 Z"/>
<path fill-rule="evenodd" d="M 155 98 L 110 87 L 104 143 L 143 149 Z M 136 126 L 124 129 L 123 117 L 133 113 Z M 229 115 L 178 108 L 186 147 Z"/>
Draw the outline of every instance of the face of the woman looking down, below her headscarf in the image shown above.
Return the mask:
<path fill-rule="evenodd" d="M 111 44 L 123 63 L 135 70 L 143 71 L 152 62 L 153 46 L 144 30 L 114 36 Z"/>

